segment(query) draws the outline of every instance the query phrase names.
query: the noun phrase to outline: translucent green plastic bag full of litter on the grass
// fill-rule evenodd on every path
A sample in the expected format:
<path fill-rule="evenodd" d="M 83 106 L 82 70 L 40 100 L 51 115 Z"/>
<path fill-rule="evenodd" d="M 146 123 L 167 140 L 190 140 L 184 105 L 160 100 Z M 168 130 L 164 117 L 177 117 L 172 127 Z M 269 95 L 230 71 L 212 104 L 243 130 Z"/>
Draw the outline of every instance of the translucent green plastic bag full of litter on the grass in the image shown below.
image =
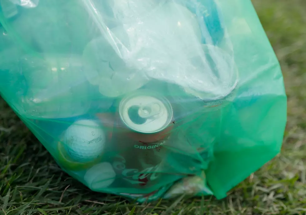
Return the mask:
<path fill-rule="evenodd" d="M 140 202 L 226 196 L 280 151 L 248 0 L 0 0 L 0 92 L 68 174 Z"/>

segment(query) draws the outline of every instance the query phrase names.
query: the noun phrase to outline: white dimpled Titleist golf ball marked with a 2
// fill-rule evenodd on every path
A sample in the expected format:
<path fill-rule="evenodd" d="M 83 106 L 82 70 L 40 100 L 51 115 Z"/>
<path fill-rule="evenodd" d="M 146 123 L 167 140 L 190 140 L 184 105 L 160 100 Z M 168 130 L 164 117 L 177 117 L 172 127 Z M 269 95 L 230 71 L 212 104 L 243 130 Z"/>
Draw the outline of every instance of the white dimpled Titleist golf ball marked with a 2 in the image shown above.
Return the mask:
<path fill-rule="evenodd" d="M 74 122 L 65 132 L 65 148 L 72 160 L 88 162 L 99 157 L 105 145 L 101 125 L 92 120 Z"/>

